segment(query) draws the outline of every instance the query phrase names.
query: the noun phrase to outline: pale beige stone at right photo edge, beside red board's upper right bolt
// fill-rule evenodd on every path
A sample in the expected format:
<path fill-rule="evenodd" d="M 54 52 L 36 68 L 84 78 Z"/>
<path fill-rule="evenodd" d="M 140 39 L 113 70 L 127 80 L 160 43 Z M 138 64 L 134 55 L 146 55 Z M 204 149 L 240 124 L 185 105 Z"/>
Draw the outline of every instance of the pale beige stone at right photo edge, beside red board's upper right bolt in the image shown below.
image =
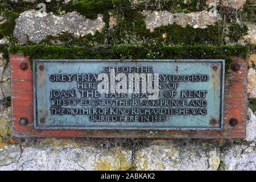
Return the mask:
<path fill-rule="evenodd" d="M 248 70 L 247 95 L 256 98 L 256 71 L 253 68 Z"/>

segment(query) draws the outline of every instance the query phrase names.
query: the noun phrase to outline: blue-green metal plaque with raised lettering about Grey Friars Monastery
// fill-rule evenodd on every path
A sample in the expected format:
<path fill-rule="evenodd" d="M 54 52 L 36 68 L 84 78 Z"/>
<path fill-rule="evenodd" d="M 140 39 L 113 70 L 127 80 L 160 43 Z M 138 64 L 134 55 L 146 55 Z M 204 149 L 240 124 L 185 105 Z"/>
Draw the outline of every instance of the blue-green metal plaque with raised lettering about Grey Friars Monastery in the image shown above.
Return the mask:
<path fill-rule="evenodd" d="M 33 62 L 35 129 L 222 129 L 225 60 Z"/>

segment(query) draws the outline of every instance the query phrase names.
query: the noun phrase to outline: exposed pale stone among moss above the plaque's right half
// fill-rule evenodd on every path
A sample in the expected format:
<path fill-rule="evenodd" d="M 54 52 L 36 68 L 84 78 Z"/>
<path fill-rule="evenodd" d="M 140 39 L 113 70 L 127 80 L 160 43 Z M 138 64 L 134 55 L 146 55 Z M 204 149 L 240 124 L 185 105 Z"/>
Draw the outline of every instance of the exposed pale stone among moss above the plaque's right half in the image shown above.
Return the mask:
<path fill-rule="evenodd" d="M 193 12 L 193 13 L 170 13 L 169 11 L 143 11 L 146 15 L 146 27 L 150 31 L 161 25 L 177 23 L 185 27 L 187 25 L 194 28 L 206 28 L 210 24 L 215 24 L 220 16 L 210 16 L 208 11 Z"/>

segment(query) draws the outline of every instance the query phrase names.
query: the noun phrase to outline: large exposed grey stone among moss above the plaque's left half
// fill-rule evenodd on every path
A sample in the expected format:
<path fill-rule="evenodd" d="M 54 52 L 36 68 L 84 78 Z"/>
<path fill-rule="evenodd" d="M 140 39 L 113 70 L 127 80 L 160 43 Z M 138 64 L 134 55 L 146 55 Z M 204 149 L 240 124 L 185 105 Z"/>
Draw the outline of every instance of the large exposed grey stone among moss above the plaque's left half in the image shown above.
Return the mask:
<path fill-rule="evenodd" d="M 39 13 L 35 10 L 25 11 L 15 19 L 14 36 L 20 43 L 26 43 L 27 38 L 38 43 L 45 39 L 46 35 L 54 36 L 61 32 L 72 33 L 75 36 L 94 35 L 105 26 L 102 18 L 103 15 L 99 14 L 95 20 L 85 19 L 75 11 L 61 16 Z"/>

